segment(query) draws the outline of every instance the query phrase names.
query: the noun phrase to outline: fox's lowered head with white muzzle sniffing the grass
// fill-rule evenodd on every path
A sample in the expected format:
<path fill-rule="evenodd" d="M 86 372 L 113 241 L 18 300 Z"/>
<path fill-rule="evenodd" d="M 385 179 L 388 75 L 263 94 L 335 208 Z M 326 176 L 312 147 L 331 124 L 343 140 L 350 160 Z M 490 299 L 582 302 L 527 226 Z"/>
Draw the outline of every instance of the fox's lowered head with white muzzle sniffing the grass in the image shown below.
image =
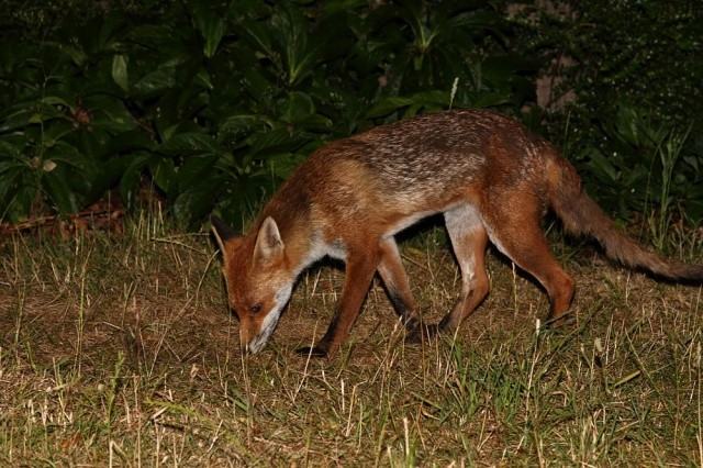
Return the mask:
<path fill-rule="evenodd" d="M 267 218 L 245 236 L 217 216 L 210 216 L 224 259 L 230 307 L 239 319 L 239 345 L 255 354 L 271 336 L 294 278 L 287 268 L 286 246 L 276 221 Z"/>

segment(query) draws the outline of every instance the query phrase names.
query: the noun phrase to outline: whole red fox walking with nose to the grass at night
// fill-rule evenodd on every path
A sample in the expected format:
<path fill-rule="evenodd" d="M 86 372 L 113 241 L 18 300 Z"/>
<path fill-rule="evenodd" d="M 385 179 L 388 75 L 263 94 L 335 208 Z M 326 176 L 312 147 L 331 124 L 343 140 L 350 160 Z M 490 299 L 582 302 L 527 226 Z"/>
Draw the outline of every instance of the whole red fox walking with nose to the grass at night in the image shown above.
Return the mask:
<path fill-rule="evenodd" d="M 489 110 L 425 114 L 331 143 L 282 183 L 247 234 L 214 215 L 211 222 L 241 345 L 252 354 L 266 345 L 301 271 L 324 256 L 345 261 L 326 334 L 299 349 L 333 356 L 376 272 L 411 338 L 455 331 L 489 292 L 489 243 L 542 283 L 549 317 L 560 317 L 576 282 L 540 229 L 548 209 L 568 232 L 593 236 L 627 267 L 703 282 L 703 266 L 659 257 L 623 235 L 550 143 Z M 420 316 L 394 235 L 435 213 L 444 214 L 462 286 L 451 311 L 431 327 Z"/>

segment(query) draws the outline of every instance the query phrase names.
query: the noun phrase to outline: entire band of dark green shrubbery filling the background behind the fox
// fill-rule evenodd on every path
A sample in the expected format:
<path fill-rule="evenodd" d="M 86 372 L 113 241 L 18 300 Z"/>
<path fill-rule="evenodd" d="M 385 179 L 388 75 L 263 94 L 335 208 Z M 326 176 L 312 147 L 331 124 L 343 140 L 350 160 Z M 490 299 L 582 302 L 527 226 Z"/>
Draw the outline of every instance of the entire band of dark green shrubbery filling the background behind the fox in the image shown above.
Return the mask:
<path fill-rule="evenodd" d="M 8 1 L 0 221 L 146 188 L 185 226 L 241 225 L 325 142 L 449 107 L 521 115 L 621 218 L 703 219 L 703 7 L 533 0 L 507 21 L 509 3 Z M 566 111 L 534 105 L 538 69 Z"/>

